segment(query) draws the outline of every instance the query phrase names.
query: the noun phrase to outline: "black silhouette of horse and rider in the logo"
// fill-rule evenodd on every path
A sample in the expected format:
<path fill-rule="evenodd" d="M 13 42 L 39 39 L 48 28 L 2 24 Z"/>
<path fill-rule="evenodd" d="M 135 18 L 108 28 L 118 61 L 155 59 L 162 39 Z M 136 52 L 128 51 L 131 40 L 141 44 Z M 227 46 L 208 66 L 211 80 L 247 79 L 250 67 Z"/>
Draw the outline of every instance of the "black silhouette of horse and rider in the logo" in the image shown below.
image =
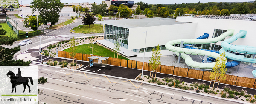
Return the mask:
<path fill-rule="evenodd" d="M 24 87 L 23 93 L 26 90 L 26 86 L 29 87 L 29 93 L 30 93 L 31 90 L 30 90 L 30 86 L 29 86 L 29 80 L 31 82 L 31 85 L 34 85 L 33 79 L 32 79 L 32 77 L 22 77 L 20 68 L 18 68 L 18 74 L 15 75 L 14 72 L 9 70 L 9 72 L 6 75 L 7 75 L 7 77 L 9 77 L 11 79 L 12 93 L 13 93 L 13 88 L 15 89 L 15 93 L 16 93 L 16 86 L 21 85 L 21 84 L 23 84 L 23 87 Z"/>

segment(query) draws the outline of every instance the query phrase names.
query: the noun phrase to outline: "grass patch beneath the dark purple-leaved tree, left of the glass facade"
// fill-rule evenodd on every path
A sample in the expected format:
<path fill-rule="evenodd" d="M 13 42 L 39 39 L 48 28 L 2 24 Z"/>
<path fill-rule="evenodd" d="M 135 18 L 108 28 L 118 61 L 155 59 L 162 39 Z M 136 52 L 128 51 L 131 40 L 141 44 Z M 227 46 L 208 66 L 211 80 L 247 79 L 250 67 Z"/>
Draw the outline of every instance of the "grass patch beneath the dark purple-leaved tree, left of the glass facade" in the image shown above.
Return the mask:
<path fill-rule="evenodd" d="M 80 27 L 82 27 L 82 30 Z M 70 31 L 75 33 L 103 33 L 103 25 L 94 24 L 94 25 L 90 25 L 90 28 L 89 28 L 89 25 L 79 25 L 78 27 L 75 27 Z"/>

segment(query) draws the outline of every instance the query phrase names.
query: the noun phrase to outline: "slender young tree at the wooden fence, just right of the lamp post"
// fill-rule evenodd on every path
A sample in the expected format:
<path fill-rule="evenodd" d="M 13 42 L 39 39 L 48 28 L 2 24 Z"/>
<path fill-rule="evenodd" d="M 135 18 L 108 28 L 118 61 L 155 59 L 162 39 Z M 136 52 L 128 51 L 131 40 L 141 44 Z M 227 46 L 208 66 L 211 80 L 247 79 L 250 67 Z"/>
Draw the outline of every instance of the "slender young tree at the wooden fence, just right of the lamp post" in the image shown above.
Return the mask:
<path fill-rule="evenodd" d="M 158 68 L 159 64 L 161 64 L 160 57 L 162 54 L 160 54 L 159 44 L 155 49 L 152 49 L 152 57 L 149 60 L 149 65 L 151 66 L 151 70 L 153 70 L 152 76 L 154 74 L 154 71 Z M 150 71 L 151 74 L 151 71 Z M 155 73 L 154 81 L 156 79 L 157 73 Z"/>

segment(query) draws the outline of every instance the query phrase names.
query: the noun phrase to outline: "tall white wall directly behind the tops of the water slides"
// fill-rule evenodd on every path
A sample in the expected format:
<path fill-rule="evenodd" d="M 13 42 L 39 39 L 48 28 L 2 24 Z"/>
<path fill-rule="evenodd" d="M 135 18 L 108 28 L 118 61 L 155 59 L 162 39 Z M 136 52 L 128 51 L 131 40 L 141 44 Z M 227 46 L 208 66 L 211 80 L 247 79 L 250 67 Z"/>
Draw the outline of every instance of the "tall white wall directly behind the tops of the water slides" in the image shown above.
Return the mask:
<path fill-rule="evenodd" d="M 256 46 L 256 21 L 242 21 L 242 20 L 227 20 L 227 19 L 203 19 L 203 18 L 189 18 L 189 17 L 177 17 L 177 22 L 193 22 L 197 23 L 194 38 L 202 36 L 204 33 L 209 33 L 209 38 L 212 38 L 215 29 L 228 30 L 233 29 L 235 33 L 239 33 L 240 30 L 247 31 L 245 38 L 239 38 L 234 41 L 233 45 L 250 45 Z M 230 38 L 228 36 L 226 38 Z M 221 45 L 222 41 L 217 42 L 217 45 Z"/>

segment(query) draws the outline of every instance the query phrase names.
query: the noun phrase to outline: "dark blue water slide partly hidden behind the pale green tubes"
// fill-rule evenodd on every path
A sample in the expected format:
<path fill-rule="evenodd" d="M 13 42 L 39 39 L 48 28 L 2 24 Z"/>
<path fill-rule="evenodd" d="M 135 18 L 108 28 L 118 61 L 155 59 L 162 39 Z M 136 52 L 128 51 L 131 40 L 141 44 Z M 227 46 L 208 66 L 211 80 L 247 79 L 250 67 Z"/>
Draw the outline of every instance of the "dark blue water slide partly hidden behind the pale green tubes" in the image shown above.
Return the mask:
<path fill-rule="evenodd" d="M 209 37 L 209 34 L 204 33 L 203 36 L 200 36 L 196 39 L 206 39 Z M 188 49 L 198 49 L 198 48 L 194 48 L 194 47 L 190 47 L 190 45 L 192 44 L 184 44 L 184 48 L 188 48 Z M 218 51 L 215 50 L 207 50 L 207 49 L 198 49 L 198 50 L 205 50 L 205 51 L 210 51 L 210 52 L 215 52 L 215 53 L 219 53 Z M 215 58 L 209 57 L 207 58 L 207 62 L 213 62 L 213 60 L 216 60 Z M 235 67 L 237 65 L 239 65 L 239 61 L 231 61 L 231 62 L 227 62 L 226 63 L 226 68 L 231 68 L 231 67 Z"/>

